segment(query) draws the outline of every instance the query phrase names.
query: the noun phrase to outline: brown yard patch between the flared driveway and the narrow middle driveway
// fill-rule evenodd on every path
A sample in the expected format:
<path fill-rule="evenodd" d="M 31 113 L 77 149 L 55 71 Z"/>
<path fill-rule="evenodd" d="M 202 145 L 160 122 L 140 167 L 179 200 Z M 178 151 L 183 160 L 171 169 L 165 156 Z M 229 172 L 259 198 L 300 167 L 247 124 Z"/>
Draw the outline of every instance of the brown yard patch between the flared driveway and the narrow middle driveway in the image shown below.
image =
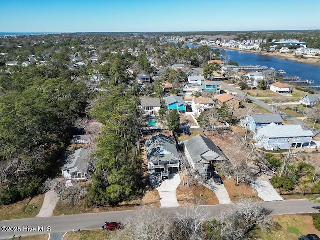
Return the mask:
<path fill-rule="evenodd" d="M 187 182 L 186 177 L 184 177 L 184 180 Z M 187 186 L 186 184 L 183 185 L 183 181 L 181 180 L 180 185 L 176 189 L 176 198 L 180 206 L 194 206 L 199 199 L 201 199 L 201 205 L 219 204 L 219 200 L 214 192 L 197 181 L 192 181 L 190 186 Z"/>

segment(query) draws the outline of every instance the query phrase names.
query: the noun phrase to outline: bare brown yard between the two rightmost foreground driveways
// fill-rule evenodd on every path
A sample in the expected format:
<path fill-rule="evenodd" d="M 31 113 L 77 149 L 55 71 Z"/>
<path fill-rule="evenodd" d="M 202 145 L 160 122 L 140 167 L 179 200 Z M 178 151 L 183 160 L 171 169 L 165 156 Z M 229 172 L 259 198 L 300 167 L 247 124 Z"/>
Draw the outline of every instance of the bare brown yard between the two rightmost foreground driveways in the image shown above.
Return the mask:
<path fill-rule="evenodd" d="M 252 197 L 254 200 L 261 201 L 257 191 L 246 183 L 240 182 L 236 185 L 234 179 L 225 177 L 222 177 L 222 181 L 233 203 L 236 203 L 240 197 Z"/>

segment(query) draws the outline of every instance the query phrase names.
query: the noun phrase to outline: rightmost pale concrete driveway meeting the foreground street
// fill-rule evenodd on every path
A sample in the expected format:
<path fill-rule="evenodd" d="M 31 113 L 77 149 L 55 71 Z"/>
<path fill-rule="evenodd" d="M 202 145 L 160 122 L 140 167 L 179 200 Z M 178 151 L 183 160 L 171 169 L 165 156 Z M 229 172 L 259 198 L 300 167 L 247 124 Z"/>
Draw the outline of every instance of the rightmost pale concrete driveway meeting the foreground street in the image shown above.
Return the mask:
<path fill-rule="evenodd" d="M 283 198 L 268 181 L 256 180 L 251 185 L 256 189 L 258 197 L 263 199 L 263 201 L 283 201 Z"/>

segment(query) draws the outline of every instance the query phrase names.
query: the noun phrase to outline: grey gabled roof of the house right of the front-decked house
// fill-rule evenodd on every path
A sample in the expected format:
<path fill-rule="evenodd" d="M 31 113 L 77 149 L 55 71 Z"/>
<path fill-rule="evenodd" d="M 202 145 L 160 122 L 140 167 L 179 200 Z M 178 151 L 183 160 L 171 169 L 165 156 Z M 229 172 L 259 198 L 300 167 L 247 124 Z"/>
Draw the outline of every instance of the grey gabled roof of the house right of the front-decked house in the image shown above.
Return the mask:
<path fill-rule="evenodd" d="M 213 160 L 225 160 L 223 153 L 214 144 L 214 142 L 210 138 L 200 134 L 186 141 L 184 145 L 190 153 L 194 163 L 201 160 L 208 162 Z"/>

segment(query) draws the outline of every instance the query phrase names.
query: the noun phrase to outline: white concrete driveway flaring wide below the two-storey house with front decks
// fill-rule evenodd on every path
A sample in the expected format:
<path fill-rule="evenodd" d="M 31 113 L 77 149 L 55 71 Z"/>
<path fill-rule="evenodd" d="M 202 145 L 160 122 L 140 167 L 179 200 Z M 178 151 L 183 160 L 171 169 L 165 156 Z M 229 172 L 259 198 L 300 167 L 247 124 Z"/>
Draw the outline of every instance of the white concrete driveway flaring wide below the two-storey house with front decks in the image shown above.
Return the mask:
<path fill-rule="evenodd" d="M 176 188 L 181 182 L 180 175 L 178 173 L 169 174 L 169 179 L 160 181 L 160 174 L 150 174 L 150 183 L 154 186 L 160 195 L 161 207 L 179 207 L 178 200 L 176 198 Z"/>

